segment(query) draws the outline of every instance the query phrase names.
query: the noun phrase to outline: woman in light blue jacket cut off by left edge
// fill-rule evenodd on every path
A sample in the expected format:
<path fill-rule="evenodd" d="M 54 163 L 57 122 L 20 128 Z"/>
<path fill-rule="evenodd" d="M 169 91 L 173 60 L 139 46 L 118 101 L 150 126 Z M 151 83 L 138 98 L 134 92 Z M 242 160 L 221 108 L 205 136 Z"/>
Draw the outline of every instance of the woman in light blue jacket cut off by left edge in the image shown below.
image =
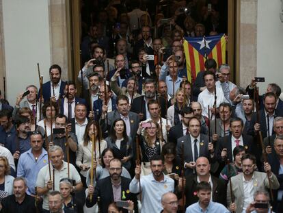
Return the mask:
<path fill-rule="evenodd" d="M 13 194 L 13 180 L 10 174 L 10 165 L 6 157 L 0 157 L 0 199 Z"/>

